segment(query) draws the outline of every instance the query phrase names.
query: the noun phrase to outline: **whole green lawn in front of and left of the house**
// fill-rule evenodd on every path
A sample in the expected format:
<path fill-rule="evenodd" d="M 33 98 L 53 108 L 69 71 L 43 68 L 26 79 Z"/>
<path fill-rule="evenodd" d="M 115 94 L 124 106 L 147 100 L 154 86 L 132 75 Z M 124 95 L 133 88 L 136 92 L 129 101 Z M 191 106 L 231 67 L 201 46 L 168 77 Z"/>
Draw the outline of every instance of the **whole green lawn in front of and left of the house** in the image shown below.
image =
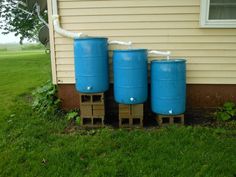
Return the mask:
<path fill-rule="evenodd" d="M 50 78 L 43 52 L 0 53 L 0 176 L 235 177 L 230 127 L 98 129 L 32 111 L 31 91 Z"/>

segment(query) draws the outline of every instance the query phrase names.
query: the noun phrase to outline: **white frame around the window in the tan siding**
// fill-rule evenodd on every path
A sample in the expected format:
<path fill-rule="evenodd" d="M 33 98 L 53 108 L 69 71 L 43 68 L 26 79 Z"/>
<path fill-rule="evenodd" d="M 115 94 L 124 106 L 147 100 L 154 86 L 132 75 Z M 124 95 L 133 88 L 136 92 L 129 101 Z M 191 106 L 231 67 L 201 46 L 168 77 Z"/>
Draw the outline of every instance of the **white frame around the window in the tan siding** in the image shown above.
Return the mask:
<path fill-rule="evenodd" d="M 236 28 L 236 20 L 209 20 L 210 0 L 201 0 L 200 26 L 202 28 Z"/>

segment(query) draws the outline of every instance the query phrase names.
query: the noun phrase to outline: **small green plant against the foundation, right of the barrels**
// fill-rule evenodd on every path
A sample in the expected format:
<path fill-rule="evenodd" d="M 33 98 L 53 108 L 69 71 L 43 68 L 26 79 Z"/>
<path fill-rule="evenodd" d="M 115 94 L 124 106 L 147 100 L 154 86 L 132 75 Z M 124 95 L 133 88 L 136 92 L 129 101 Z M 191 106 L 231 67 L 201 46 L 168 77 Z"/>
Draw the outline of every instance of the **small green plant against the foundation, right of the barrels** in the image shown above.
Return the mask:
<path fill-rule="evenodd" d="M 236 115 L 236 106 L 233 102 L 226 102 L 222 107 L 217 109 L 214 115 L 219 121 L 230 120 Z"/>

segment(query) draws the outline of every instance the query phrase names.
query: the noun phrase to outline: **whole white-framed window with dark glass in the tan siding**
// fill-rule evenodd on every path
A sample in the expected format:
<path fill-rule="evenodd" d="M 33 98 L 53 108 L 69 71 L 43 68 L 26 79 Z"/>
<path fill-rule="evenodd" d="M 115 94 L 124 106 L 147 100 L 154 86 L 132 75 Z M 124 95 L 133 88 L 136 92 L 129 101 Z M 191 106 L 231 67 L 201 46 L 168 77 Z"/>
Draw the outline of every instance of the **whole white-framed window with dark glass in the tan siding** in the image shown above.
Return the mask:
<path fill-rule="evenodd" d="M 236 0 L 201 0 L 203 28 L 236 28 Z"/>

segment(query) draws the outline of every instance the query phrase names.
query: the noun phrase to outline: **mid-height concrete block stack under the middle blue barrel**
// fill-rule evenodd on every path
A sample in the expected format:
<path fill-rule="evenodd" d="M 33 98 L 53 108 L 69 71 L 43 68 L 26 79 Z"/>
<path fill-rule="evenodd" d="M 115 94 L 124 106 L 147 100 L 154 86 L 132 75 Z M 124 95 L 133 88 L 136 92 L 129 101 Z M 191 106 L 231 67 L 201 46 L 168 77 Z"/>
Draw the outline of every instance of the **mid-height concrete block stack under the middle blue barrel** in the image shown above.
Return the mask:
<path fill-rule="evenodd" d="M 137 105 L 119 104 L 119 127 L 120 128 L 143 127 L 143 104 L 137 104 Z"/>

